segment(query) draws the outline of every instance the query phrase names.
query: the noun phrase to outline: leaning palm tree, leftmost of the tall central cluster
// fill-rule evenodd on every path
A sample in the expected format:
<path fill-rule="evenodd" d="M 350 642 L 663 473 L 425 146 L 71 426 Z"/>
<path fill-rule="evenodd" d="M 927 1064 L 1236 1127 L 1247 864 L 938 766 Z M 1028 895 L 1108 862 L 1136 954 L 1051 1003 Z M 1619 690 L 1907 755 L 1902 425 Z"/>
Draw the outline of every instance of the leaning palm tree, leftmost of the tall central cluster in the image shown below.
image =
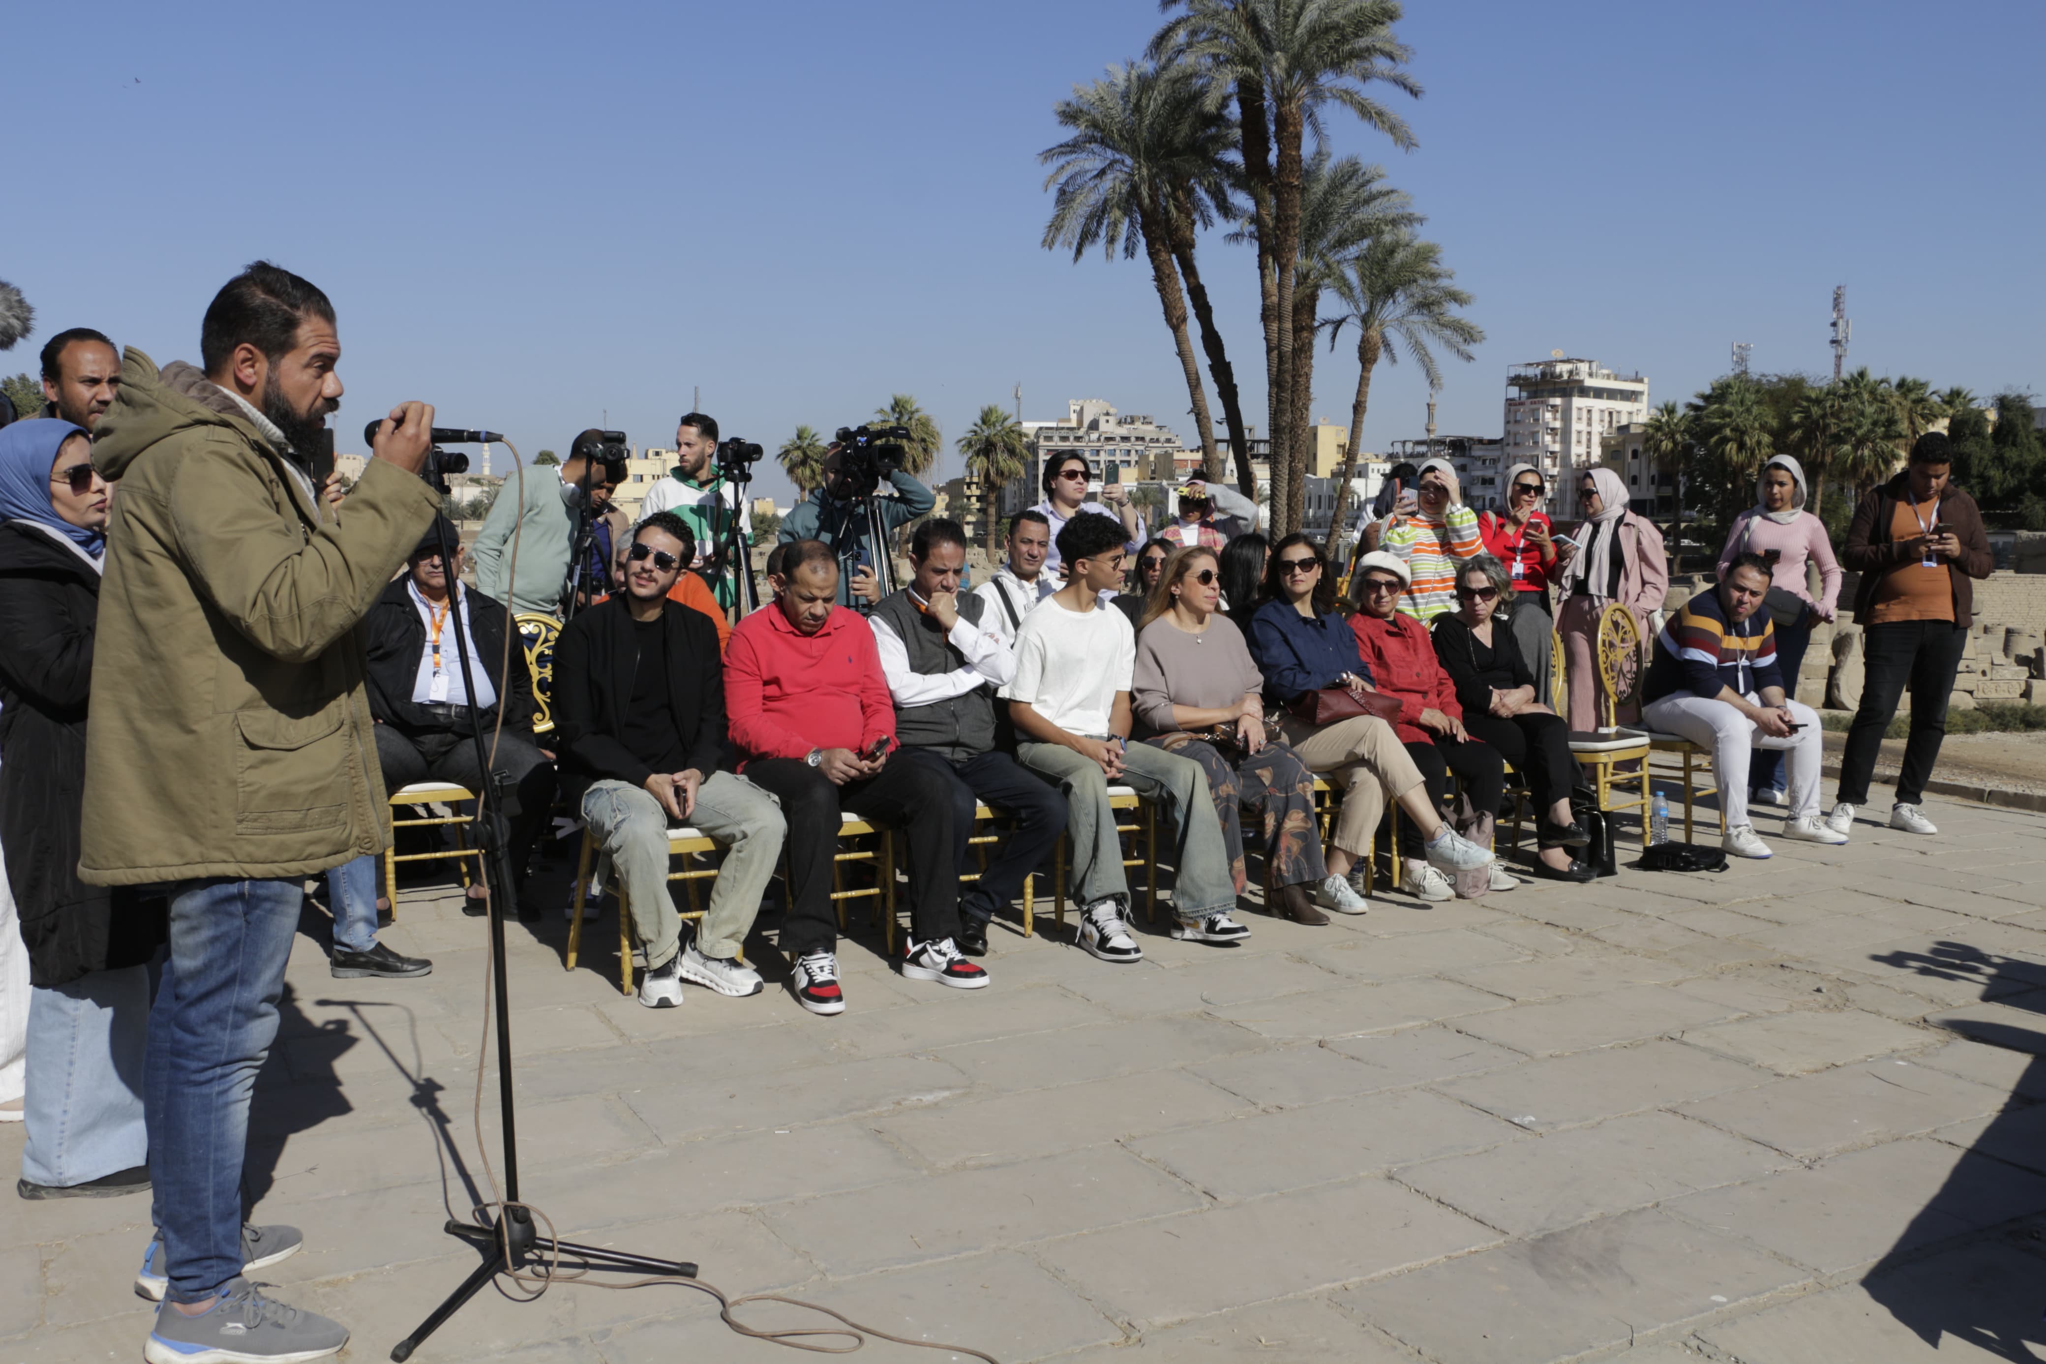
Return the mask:
<path fill-rule="evenodd" d="M 1074 86 L 1070 100 L 1058 102 L 1058 121 L 1074 135 L 1037 153 L 1052 166 L 1046 188 L 1058 186 L 1052 221 L 1043 229 L 1046 249 L 1072 247 L 1080 260 L 1101 245 L 1107 258 L 1121 247 L 1125 260 L 1142 249 L 1152 268 L 1152 286 L 1164 307 L 1164 323 L 1178 348 L 1178 364 L 1193 399 L 1193 423 L 1201 438 L 1201 466 L 1221 479 L 1215 425 L 1201 387 L 1201 364 L 1187 331 L 1187 297 L 1172 260 L 1174 184 L 1211 176 L 1215 145 L 1191 133 L 1211 119 L 1201 117 L 1205 92 L 1191 67 L 1125 63 L 1109 67 L 1105 80 Z M 1191 207 L 1189 207 L 1191 211 Z"/>

